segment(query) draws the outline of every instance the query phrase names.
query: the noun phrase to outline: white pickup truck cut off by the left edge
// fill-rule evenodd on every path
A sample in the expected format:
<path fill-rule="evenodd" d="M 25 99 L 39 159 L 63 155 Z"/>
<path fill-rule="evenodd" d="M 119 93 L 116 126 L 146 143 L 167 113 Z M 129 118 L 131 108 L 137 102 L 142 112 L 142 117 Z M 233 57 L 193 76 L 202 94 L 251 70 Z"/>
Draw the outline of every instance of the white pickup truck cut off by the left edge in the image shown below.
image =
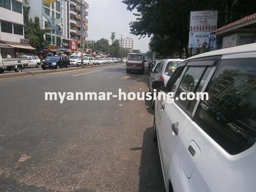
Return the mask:
<path fill-rule="evenodd" d="M 28 59 L 3 59 L 0 54 L 0 73 L 4 73 L 5 70 L 20 73 L 28 63 Z"/>

